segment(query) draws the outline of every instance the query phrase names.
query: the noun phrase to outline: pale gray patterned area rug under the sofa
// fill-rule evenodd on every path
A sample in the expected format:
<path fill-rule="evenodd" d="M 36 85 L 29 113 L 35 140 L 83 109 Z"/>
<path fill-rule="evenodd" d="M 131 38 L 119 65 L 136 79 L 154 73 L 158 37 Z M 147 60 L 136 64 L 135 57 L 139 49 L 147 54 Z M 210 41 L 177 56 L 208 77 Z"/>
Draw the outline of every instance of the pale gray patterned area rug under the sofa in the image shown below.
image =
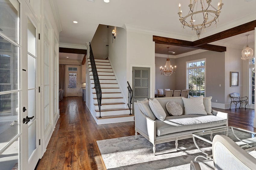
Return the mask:
<path fill-rule="evenodd" d="M 190 169 L 190 161 L 203 155 L 195 146 L 193 139 L 175 141 L 156 145 L 156 156 L 153 145 L 142 135 L 97 141 L 98 148 L 107 169 L 150 170 L 150 169 Z M 211 144 L 198 140 L 197 144 L 211 154 Z M 198 158 L 197 161 L 205 159 Z M 202 169 L 214 169 L 213 161 L 201 162 Z"/>

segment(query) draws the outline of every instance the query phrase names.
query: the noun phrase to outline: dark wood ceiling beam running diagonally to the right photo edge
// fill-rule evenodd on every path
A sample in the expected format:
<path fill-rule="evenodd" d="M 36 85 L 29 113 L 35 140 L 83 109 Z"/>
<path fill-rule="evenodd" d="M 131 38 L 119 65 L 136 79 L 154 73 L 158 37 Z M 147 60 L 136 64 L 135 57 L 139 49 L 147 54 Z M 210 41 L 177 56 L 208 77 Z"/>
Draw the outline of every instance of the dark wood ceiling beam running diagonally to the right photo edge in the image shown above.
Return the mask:
<path fill-rule="evenodd" d="M 208 43 L 211 43 L 214 41 L 222 40 L 224 38 L 229 38 L 229 37 L 232 37 L 235 35 L 239 35 L 239 34 L 242 34 L 242 33 L 248 32 L 248 31 L 252 31 L 255 29 L 255 27 L 256 27 L 256 20 L 236 26 L 231 29 L 227 29 L 225 31 L 219 32 L 214 35 L 210 35 L 205 38 L 201 38 L 199 40 L 196 40 L 193 42 L 193 46 L 198 47 L 203 44 L 208 44 Z"/>

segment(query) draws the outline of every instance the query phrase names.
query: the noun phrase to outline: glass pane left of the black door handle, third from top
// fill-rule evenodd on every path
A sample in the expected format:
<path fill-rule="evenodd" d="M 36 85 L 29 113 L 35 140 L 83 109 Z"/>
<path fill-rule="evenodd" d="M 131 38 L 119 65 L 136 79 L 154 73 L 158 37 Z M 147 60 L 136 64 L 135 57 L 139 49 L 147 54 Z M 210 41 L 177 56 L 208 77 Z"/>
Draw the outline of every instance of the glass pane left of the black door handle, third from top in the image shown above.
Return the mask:
<path fill-rule="evenodd" d="M 18 134 L 18 96 L 19 92 L 0 95 L 0 149 Z"/>

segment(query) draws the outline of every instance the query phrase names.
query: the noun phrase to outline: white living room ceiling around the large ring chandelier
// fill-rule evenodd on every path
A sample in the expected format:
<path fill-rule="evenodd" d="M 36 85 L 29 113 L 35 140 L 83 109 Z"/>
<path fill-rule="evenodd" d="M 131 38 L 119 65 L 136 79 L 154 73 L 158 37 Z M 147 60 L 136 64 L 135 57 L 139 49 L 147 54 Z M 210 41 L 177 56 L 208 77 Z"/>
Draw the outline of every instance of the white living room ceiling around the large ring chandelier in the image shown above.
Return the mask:
<path fill-rule="evenodd" d="M 212 0 L 217 6 L 219 0 Z M 215 26 L 211 26 L 204 35 L 208 36 L 227 28 L 238 26 L 256 19 L 256 0 L 223 0 L 223 8 Z M 184 35 L 183 39 L 196 39 L 189 29 L 183 30 L 179 21 L 178 4 L 183 14 L 188 13 L 188 0 L 56 0 L 61 20 L 60 42 L 85 44 L 92 40 L 98 24 L 125 27 L 124 24 L 153 30 Z M 73 20 L 78 21 L 77 24 Z M 234 22 L 236 20 L 236 22 Z M 193 36 L 193 37 L 192 37 Z"/>

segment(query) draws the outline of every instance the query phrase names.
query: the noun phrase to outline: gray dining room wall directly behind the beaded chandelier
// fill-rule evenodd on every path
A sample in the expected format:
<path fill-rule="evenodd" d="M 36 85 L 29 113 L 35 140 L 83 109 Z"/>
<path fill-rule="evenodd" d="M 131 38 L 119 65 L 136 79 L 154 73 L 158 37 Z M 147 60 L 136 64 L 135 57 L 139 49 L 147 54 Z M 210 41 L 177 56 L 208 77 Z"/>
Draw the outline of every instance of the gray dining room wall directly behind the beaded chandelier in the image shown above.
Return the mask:
<path fill-rule="evenodd" d="M 160 66 L 164 67 L 166 58 L 164 57 L 155 57 L 155 88 L 156 89 L 171 89 L 175 90 L 175 77 L 176 74 L 167 77 L 161 75 Z M 175 59 L 170 59 L 171 65 L 175 65 Z M 179 71 L 177 69 L 177 71 Z"/>

